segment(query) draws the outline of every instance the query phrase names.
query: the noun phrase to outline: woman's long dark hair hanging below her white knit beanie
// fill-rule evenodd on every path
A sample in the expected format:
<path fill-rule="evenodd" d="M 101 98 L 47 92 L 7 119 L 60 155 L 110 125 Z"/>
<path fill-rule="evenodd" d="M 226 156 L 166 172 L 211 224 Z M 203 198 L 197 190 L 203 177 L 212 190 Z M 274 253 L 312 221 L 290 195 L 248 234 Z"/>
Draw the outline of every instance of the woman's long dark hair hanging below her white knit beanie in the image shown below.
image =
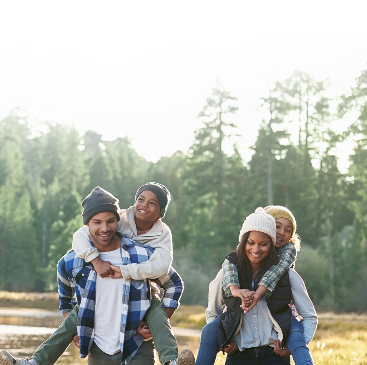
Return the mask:
<path fill-rule="evenodd" d="M 237 254 L 237 260 L 238 260 L 238 277 L 240 280 L 240 283 L 244 283 L 245 287 L 241 289 L 252 289 L 252 267 L 251 263 L 248 260 L 248 257 L 245 253 L 245 246 L 248 239 L 248 236 L 250 235 L 250 232 L 246 232 L 242 238 L 240 244 L 237 246 L 236 254 Z M 255 280 L 254 280 L 254 287 L 257 287 L 258 282 L 263 277 L 263 275 L 266 273 L 266 271 L 269 270 L 271 265 L 274 265 L 278 262 L 278 256 L 275 250 L 274 245 L 272 244 L 272 240 L 270 239 L 270 250 L 269 254 L 262 260 L 262 266 L 260 271 L 256 274 Z"/>

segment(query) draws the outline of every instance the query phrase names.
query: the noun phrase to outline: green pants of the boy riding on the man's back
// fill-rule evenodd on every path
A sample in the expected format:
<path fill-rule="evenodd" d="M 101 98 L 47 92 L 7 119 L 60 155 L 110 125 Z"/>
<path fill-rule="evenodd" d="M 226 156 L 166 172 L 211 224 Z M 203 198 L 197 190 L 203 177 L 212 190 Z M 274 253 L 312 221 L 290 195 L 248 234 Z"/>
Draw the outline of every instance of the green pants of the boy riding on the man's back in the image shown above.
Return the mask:
<path fill-rule="evenodd" d="M 60 327 L 33 354 L 32 359 L 39 365 L 53 365 L 68 348 L 76 335 L 76 320 L 79 306 L 76 306 L 66 316 Z M 178 345 L 173 335 L 166 309 L 158 295 L 152 296 L 152 303 L 145 314 L 153 342 L 161 364 L 171 361 L 178 356 Z"/>

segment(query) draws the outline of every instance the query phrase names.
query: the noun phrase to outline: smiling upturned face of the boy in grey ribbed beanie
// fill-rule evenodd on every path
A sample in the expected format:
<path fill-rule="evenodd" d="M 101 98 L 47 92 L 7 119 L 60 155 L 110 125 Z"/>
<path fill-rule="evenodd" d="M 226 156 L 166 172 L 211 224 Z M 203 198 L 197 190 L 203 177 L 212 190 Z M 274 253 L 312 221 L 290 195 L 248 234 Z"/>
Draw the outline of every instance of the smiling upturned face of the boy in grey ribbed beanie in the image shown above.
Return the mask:
<path fill-rule="evenodd" d="M 134 208 L 135 219 L 154 223 L 160 218 L 160 205 L 157 195 L 150 190 L 144 190 L 138 196 Z"/>

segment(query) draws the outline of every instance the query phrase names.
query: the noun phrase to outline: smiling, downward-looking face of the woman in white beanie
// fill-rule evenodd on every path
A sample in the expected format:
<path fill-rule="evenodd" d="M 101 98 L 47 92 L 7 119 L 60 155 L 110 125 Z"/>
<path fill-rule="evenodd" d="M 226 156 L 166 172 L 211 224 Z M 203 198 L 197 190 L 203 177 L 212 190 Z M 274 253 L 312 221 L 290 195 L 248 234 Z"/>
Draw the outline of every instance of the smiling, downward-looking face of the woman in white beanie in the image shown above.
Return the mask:
<path fill-rule="evenodd" d="M 268 256 L 272 239 L 266 233 L 251 231 L 245 245 L 245 254 L 251 265 L 261 266 L 261 261 Z"/>

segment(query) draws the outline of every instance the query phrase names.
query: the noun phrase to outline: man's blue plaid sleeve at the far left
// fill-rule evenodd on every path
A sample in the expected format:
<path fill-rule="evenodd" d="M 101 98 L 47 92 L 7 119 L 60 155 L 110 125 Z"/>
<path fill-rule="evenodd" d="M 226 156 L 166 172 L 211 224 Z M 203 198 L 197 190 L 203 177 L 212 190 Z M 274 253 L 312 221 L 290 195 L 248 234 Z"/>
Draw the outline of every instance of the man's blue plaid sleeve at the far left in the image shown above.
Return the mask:
<path fill-rule="evenodd" d="M 66 273 L 64 257 L 57 264 L 57 284 L 60 301 L 59 310 L 64 316 L 64 314 L 67 315 L 77 304 L 74 284 Z"/>

